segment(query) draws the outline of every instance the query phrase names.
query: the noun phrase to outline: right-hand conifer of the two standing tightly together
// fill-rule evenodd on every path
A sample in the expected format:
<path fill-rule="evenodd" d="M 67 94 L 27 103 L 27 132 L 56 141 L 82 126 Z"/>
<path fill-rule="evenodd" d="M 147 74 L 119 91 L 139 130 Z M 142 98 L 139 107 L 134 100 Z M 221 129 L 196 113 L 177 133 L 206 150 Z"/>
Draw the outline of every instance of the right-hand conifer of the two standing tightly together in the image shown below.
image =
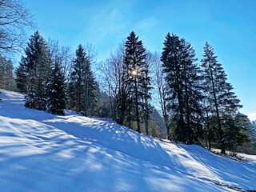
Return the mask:
<path fill-rule="evenodd" d="M 184 90 L 183 98 L 185 101 L 186 114 L 186 143 L 199 142 L 202 138 L 202 87 L 201 70 L 198 64 L 195 63 L 198 59 L 195 58 L 195 52 L 190 43 L 181 39 L 181 64 L 182 64 L 182 81 Z"/>

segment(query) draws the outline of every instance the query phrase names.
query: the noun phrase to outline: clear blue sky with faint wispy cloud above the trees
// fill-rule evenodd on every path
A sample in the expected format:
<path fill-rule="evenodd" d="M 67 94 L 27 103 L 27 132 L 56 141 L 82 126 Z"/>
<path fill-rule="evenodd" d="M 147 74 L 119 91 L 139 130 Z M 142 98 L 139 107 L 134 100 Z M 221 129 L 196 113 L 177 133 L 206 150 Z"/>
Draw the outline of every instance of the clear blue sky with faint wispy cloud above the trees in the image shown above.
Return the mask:
<path fill-rule="evenodd" d="M 256 119 L 256 1 L 82 1 L 24 0 L 44 38 L 75 49 L 92 43 L 104 60 L 134 30 L 146 49 L 162 51 L 170 32 L 185 38 L 202 58 L 206 41 L 214 47 L 228 82 Z"/>

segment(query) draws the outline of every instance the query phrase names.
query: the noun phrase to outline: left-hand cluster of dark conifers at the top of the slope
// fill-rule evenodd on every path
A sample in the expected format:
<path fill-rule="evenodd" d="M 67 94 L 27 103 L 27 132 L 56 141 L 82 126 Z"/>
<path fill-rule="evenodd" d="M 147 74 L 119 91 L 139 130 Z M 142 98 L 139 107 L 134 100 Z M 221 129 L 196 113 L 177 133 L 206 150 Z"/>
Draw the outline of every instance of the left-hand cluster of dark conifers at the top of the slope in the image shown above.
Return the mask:
<path fill-rule="evenodd" d="M 16 74 L 18 89 L 26 94 L 25 106 L 64 114 L 70 110 L 94 114 L 98 84 L 91 71 L 91 60 L 79 45 L 72 60 L 68 47 L 48 43 L 37 32 L 30 37 Z"/>

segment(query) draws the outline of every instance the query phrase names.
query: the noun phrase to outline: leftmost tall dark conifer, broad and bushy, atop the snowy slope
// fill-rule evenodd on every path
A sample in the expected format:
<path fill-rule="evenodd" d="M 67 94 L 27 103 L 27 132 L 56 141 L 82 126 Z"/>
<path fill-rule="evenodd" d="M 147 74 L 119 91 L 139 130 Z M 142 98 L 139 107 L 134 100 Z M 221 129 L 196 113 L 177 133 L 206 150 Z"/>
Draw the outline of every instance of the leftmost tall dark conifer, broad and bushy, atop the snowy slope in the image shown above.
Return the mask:
<path fill-rule="evenodd" d="M 17 86 L 26 94 L 26 107 L 46 110 L 51 61 L 46 42 L 38 31 L 30 37 L 25 54 L 16 70 Z"/>

